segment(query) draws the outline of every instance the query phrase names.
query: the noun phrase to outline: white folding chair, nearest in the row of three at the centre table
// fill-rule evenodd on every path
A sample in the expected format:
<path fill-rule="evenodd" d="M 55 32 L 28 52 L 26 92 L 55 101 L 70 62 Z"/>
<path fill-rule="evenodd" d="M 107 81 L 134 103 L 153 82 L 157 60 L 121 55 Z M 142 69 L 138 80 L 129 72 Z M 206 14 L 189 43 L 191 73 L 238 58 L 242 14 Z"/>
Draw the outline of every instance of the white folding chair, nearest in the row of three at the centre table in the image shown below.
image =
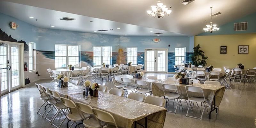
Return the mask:
<path fill-rule="evenodd" d="M 152 94 L 152 90 L 149 89 L 148 87 L 148 83 L 144 80 L 135 80 L 135 86 L 137 88 L 137 92 L 139 93 L 145 93 L 147 95 L 147 93 L 149 93 L 150 95 Z"/>

